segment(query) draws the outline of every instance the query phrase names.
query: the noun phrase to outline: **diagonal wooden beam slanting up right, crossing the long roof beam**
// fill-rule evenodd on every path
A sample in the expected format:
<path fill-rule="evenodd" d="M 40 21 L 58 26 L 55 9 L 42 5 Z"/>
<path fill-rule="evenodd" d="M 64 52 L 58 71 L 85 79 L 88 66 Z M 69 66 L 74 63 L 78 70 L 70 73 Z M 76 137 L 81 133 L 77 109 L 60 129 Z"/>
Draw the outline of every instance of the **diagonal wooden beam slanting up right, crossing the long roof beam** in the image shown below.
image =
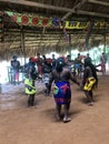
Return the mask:
<path fill-rule="evenodd" d="M 67 14 L 65 14 L 63 17 L 62 17 L 62 20 L 65 20 L 65 19 L 67 19 L 69 16 L 71 16 L 73 12 L 76 12 L 77 11 L 77 9 L 79 9 L 83 3 L 86 3 L 87 2 L 87 0 L 82 0 L 82 1 L 80 1 L 78 4 L 76 4 L 72 9 L 71 9 L 71 11 L 69 11 Z"/>

